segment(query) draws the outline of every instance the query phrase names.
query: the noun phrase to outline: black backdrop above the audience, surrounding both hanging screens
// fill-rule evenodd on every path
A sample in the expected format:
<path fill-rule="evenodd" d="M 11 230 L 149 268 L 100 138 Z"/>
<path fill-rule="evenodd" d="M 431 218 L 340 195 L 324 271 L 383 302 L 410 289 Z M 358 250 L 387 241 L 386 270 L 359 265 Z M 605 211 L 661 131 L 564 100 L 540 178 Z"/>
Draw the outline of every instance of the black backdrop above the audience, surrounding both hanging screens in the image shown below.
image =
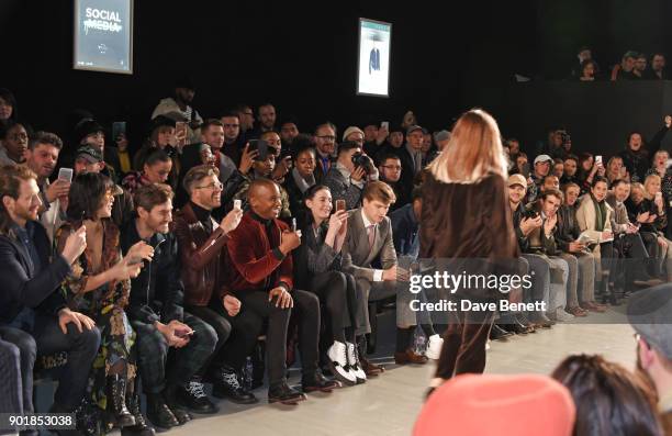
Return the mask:
<path fill-rule="evenodd" d="M 271 101 L 280 118 L 295 115 L 302 131 L 324 120 L 341 131 L 371 119 L 397 124 L 407 109 L 438 130 L 483 105 L 505 136 L 531 141 L 544 137 L 550 122 L 583 118 L 562 120 L 576 104 L 563 102 L 562 90 L 549 103 L 552 116 L 519 111 L 525 98 L 544 99 L 540 88 L 530 97 L 530 83 L 513 87 L 514 72 L 563 79 L 581 45 L 591 45 L 606 69 L 630 48 L 667 53 L 672 36 L 664 26 L 672 2 L 664 0 L 284 3 L 135 1 L 134 74 L 126 76 L 71 68 L 72 1 L 2 0 L 0 86 L 15 93 L 21 119 L 36 128 L 64 132 L 68 112 L 86 108 L 105 125 L 128 121 L 134 143 L 184 74 L 193 77 L 193 105 L 204 118 L 238 102 Z M 355 94 L 359 16 L 393 23 L 389 99 Z M 628 119 L 631 108 L 621 109 Z M 658 116 L 662 107 L 643 111 Z M 587 137 L 580 142 L 579 148 L 594 146 Z"/>

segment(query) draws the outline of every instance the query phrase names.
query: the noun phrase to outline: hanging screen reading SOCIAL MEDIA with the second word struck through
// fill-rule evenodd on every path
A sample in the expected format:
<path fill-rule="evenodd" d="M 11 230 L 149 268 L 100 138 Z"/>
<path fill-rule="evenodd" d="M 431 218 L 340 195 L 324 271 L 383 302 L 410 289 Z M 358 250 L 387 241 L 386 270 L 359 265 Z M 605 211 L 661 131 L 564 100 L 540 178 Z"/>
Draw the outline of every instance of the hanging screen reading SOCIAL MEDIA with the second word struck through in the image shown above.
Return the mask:
<path fill-rule="evenodd" d="M 72 68 L 133 74 L 133 0 L 75 0 Z"/>

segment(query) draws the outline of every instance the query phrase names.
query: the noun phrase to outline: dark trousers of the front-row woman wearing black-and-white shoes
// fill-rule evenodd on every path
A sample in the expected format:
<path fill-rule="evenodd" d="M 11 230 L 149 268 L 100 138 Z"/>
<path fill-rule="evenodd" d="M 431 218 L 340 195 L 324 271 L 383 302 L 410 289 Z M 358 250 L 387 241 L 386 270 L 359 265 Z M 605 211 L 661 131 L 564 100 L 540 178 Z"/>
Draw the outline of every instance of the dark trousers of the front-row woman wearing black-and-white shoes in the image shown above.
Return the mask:
<path fill-rule="evenodd" d="M 328 314 L 334 340 L 355 342 L 346 337 L 345 327 L 350 327 L 352 335 L 357 329 L 357 308 L 359 304 L 355 278 L 340 271 L 317 273 L 311 280 L 311 289 L 324 303 Z"/>

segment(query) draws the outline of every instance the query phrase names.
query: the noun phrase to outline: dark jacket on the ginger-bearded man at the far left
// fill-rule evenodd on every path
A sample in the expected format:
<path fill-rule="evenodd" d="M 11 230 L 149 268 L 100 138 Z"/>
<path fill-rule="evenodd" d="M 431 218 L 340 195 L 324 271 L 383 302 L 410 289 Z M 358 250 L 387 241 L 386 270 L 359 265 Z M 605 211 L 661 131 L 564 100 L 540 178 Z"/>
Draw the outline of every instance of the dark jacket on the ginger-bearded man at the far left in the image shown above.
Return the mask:
<path fill-rule="evenodd" d="M 24 306 L 53 314 L 66 306 L 60 283 L 70 266 L 59 254 L 52 258 L 52 244 L 42 224 L 33 221 L 27 226 L 33 227 L 33 244 L 42 269 L 35 270 L 13 231 L 0 235 L 0 324 L 11 322 Z"/>

